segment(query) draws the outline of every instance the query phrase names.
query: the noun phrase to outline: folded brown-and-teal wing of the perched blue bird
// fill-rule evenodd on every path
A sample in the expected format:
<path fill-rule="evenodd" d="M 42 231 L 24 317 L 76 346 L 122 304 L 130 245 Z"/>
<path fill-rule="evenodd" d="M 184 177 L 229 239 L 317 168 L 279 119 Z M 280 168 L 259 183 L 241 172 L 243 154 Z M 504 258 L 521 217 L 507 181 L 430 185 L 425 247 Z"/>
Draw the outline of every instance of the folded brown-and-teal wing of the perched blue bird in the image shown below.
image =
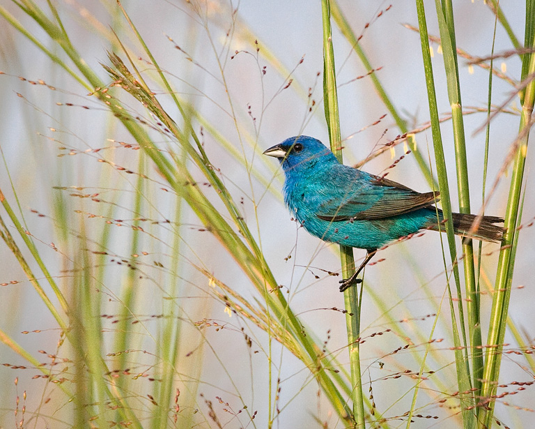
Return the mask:
<path fill-rule="evenodd" d="M 339 183 L 338 191 L 320 204 L 316 216 L 332 222 L 375 220 L 409 213 L 440 200 L 438 192 L 417 193 L 400 183 L 361 173 L 358 186 L 348 190 L 350 181 Z"/>

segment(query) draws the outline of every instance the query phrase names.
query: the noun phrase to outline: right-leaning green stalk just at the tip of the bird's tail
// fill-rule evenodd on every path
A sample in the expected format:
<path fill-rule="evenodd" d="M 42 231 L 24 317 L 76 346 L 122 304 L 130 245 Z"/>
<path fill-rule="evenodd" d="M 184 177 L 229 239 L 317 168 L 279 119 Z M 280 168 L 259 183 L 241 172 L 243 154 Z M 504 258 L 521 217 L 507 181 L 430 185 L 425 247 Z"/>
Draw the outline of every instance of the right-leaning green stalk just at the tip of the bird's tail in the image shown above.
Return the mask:
<path fill-rule="evenodd" d="M 526 40 L 526 47 L 535 45 L 534 26 L 535 2 L 527 3 L 526 32 L 532 36 L 531 40 Z M 531 13 L 531 15 L 530 15 Z M 522 80 L 535 73 L 535 55 L 524 54 L 523 61 L 527 66 L 522 66 Z M 524 73 L 526 75 L 524 75 Z M 481 397 L 485 407 L 481 411 L 480 428 L 490 428 L 493 422 L 495 401 L 493 395 L 497 390 L 499 379 L 499 369 L 502 361 L 502 349 L 506 331 L 507 314 L 509 310 L 509 299 L 511 296 L 511 283 L 513 280 L 513 269 L 515 264 L 516 245 L 518 243 L 518 225 L 520 218 L 520 196 L 522 193 L 522 180 L 524 177 L 525 160 L 527 153 L 527 143 L 529 139 L 529 128 L 532 126 L 532 114 L 535 101 L 535 80 L 529 82 L 523 94 L 522 112 L 520 114 L 520 130 L 513 171 L 511 174 L 511 186 L 509 188 L 509 199 L 507 201 L 504 226 L 502 250 L 499 253 L 498 270 L 493 295 L 493 306 L 490 312 L 490 322 L 487 344 L 495 347 L 488 347 L 485 354 L 485 368 L 483 370 L 483 386 Z"/>

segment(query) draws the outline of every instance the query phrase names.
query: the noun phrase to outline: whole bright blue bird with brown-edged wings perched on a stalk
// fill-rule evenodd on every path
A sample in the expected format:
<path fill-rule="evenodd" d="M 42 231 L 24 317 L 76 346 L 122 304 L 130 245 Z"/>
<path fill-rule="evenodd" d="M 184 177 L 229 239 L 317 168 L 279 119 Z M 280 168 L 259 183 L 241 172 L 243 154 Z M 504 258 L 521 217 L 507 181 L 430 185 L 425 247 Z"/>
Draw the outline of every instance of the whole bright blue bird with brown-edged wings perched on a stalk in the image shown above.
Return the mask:
<path fill-rule="evenodd" d="M 418 193 L 400 183 L 339 163 L 334 153 L 313 137 L 290 137 L 264 155 L 279 159 L 284 170 L 284 202 L 313 236 L 343 246 L 366 249 L 366 258 L 351 278 L 341 280 L 340 292 L 387 243 L 418 232 L 439 229 L 442 211 L 433 204 L 438 192 Z M 437 217 L 438 214 L 438 217 Z M 504 220 L 484 216 L 470 232 L 476 216 L 452 213 L 455 233 L 469 239 L 499 242 Z"/>

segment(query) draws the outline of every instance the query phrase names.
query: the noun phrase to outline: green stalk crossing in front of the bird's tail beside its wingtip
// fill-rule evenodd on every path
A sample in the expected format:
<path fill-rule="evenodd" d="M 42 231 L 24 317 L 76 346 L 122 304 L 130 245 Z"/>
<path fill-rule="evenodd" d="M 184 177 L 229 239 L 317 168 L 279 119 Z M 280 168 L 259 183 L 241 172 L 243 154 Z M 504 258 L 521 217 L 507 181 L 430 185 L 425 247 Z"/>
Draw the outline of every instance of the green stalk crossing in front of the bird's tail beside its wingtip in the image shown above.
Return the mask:
<path fill-rule="evenodd" d="M 449 253 L 451 262 L 453 264 L 453 277 L 457 285 L 457 289 L 460 289 L 460 279 L 458 272 L 458 265 L 456 264 L 456 243 L 455 235 L 453 232 L 453 222 L 451 219 L 451 199 L 449 196 L 449 186 L 447 178 L 446 163 L 444 159 L 444 148 L 442 146 L 442 137 L 440 135 L 440 122 L 438 117 L 437 99 L 435 94 L 435 83 L 433 79 L 433 65 L 431 63 L 431 54 L 429 52 L 428 43 L 428 31 L 426 23 L 426 15 L 423 0 L 416 0 L 419 33 L 421 42 L 421 52 L 424 59 L 424 71 L 426 74 L 426 86 L 428 92 L 429 101 L 429 113 L 431 116 L 431 131 L 433 134 L 433 147 L 435 149 L 435 163 L 437 165 L 437 176 L 440 186 L 440 197 L 442 202 L 442 209 L 444 211 L 444 218 L 447 219 L 445 223 L 447 239 L 449 243 Z M 470 393 L 470 376 L 467 372 L 467 361 L 465 361 L 465 354 L 463 354 L 463 347 L 460 345 L 460 337 L 458 333 L 458 325 L 455 310 L 453 308 L 453 302 L 451 300 L 451 291 L 449 290 L 449 279 L 447 280 L 447 287 L 450 296 L 450 310 L 451 310 L 451 324 L 453 330 L 453 344 L 455 345 L 455 357 L 456 357 L 456 370 L 457 380 L 460 393 L 460 405 L 463 413 L 463 425 L 465 429 L 475 428 L 476 423 L 474 419 L 474 412 L 470 411 L 473 407 L 473 396 Z M 464 329 L 464 326 L 461 325 Z M 466 343 L 465 343 L 466 345 Z M 414 393 L 416 394 L 416 392 Z M 410 417 L 412 416 L 414 407 L 411 407 L 408 417 L 408 427 L 410 426 Z"/>

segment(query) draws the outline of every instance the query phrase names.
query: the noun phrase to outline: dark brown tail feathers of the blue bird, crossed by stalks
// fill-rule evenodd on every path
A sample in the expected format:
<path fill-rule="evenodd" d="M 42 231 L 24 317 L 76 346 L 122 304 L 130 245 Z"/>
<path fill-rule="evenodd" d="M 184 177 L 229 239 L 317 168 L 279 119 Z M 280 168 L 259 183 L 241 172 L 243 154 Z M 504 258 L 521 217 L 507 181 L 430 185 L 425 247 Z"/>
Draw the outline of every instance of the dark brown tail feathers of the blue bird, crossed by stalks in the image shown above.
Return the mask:
<path fill-rule="evenodd" d="M 442 213 L 441 213 L 442 214 Z M 495 223 L 504 223 L 503 218 L 497 216 L 483 216 L 477 220 L 477 216 L 466 213 L 451 213 L 453 215 L 453 229 L 457 235 L 468 239 L 484 241 L 502 241 L 505 228 L 495 225 Z M 438 231 L 438 225 L 431 226 L 431 229 Z M 473 230 L 472 230 L 473 229 Z M 444 225 L 440 226 L 444 231 Z"/>

